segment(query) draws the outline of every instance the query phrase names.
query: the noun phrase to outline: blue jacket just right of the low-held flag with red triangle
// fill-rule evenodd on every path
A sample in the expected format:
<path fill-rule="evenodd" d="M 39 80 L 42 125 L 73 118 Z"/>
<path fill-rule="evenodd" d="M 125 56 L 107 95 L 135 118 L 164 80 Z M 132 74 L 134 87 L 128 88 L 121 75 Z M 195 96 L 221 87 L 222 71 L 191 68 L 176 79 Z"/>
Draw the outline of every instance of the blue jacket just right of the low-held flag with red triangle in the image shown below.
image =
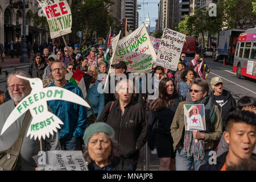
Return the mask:
<path fill-rule="evenodd" d="M 102 89 L 101 89 L 101 93 L 98 92 L 98 90 L 97 90 L 98 84 L 100 84 L 100 82 L 98 82 L 96 80 L 96 82 L 89 88 L 88 93 L 87 93 L 87 96 L 90 101 L 90 105 L 92 106 L 92 109 L 93 109 L 93 113 L 98 113 L 97 118 L 96 118 L 97 120 L 100 117 L 101 111 L 103 110 L 104 105 L 105 105 L 104 92 Z M 101 86 L 101 84 L 100 84 L 100 86 Z M 88 108 L 88 115 L 91 115 L 91 114 L 92 114 L 92 111 L 90 110 L 90 108 Z"/>

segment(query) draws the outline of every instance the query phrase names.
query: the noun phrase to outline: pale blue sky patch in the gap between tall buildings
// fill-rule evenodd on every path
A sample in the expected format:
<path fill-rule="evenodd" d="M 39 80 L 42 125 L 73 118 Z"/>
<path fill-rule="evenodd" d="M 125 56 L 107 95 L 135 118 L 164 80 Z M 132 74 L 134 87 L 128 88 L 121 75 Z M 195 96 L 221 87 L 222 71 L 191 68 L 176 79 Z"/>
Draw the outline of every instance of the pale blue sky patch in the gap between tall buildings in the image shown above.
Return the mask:
<path fill-rule="evenodd" d="M 158 3 L 159 0 L 137 0 L 137 4 L 141 5 L 141 10 L 138 10 L 139 26 L 141 26 L 142 22 L 146 22 L 148 13 L 150 16 L 150 27 L 155 27 L 155 20 L 158 19 Z"/>

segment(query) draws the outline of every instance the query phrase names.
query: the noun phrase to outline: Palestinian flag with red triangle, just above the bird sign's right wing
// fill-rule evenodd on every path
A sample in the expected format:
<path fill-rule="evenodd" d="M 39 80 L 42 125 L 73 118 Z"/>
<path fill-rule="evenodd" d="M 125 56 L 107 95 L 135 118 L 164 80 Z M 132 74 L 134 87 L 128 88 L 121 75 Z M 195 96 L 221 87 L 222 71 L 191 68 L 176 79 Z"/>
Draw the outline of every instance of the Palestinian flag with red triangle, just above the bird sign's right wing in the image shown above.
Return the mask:
<path fill-rule="evenodd" d="M 82 90 L 84 98 L 86 98 L 92 77 L 80 69 L 76 69 L 69 81 L 79 86 L 79 88 Z"/>

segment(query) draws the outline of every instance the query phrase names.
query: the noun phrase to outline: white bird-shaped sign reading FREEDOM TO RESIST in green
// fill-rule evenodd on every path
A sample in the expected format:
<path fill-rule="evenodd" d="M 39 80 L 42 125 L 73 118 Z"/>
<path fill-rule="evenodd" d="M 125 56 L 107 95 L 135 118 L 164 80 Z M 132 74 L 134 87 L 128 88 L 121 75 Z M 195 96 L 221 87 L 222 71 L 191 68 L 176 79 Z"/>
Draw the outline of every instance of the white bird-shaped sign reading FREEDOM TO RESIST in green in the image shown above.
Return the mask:
<path fill-rule="evenodd" d="M 30 110 L 32 121 L 28 127 L 27 137 L 30 135 L 30 139 L 34 137 L 35 140 L 36 138 L 40 140 L 42 137 L 43 139 L 46 136 L 49 137 L 49 134 L 53 135 L 53 131 L 57 132 L 57 128 L 60 129 L 60 125 L 63 125 L 63 122 L 55 114 L 48 111 L 47 101 L 63 100 L 90 108 L 84 99 L 67 89 L 57 86 L 43 88 L 43 82 L 39 78 L 27 78 L 20 75 L 16 75 L 16 77 L 28 80 L 32 90 L 11 112 L 5 125 L 3 125 L 1 135 L 28 109 Z"/>

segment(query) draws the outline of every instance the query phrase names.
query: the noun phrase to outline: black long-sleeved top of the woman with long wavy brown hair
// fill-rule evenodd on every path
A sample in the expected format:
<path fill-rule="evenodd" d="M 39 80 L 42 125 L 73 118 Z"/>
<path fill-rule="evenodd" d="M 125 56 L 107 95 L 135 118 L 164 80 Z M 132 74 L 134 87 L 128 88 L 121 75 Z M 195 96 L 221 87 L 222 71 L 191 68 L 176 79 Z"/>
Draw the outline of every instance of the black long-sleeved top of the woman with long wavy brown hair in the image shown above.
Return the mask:
<path fill-rule="evenodd" d="M 155 145 L 155 131 L 162 134 L 171 135 L 171 124 L 174 118 L 177 106 L 179 105 L 179 97 L 174 96 L 175 105 L 171 106 L 170 109 L 164 107 L 159 111 L 150 110 L 148 115 L 148 147 L 150 150 L 154 149 Z"/>

